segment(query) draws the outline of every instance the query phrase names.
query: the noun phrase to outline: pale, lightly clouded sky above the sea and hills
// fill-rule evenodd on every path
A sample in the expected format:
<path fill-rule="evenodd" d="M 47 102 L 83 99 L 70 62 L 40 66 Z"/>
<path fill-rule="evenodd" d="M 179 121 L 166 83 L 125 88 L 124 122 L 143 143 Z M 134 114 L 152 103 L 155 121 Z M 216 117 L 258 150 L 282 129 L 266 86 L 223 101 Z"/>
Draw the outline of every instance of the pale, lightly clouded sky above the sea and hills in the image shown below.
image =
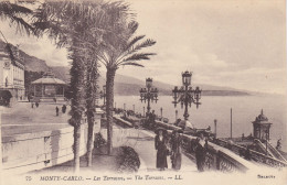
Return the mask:
<path fill-rule="evenodd" d="M 117 73 L 181 85 L 191 70 L 192 83 L 286 94 L 285 0 L 129 0 L 137 13 L 137 35 L 157 41 L 157 53 L 140 67 Z M 9 42 L 20 44 L 47 65 L 68 65 L 66 51 L 46 37 L 14 34 L 1 22 Z M 104 74 L 104 72 L 103 72 Z"/>

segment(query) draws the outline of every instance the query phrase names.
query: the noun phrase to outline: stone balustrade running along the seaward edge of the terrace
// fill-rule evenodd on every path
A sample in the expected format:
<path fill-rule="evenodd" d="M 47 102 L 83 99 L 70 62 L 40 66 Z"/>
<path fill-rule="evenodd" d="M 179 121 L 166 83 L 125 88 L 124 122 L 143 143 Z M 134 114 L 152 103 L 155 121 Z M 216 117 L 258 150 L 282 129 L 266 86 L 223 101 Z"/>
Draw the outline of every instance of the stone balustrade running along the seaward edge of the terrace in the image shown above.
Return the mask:
<path fill-rule="evenodd" d="M 126 124 L 131 124 L 128 121 L 125 121 Z M 168 133 L 171 134 L 172 130 L 180 130 L 181 128 L 173 124 L 164 123 L 161 121 L 156 121 L 156 128 L 161 127 L 168 130 Z M 184 153 L 195 159 L 194 146 L 195 146 L 195 137 L 182 134 Z M 212 143 L 214 142 L 214 143 Z M 206 146 L 206 157 L 205 157 L 205 170 L 215 170 L 221 172 L 246 172 L 249 168 L 255 167 L 255 165 L 247 160 L 240 156 L 240 152 L 245 150 L 245 148 L 236 144 L 230 144 L 224 140 L 214 140 L 208 142 Z M 256 151 L 251 151 L 252 159 L 256 162 L 266 164 L 273 167 L 284 167 L 286 163 L 278 161 L 276 159 L 268 157 Z"/>

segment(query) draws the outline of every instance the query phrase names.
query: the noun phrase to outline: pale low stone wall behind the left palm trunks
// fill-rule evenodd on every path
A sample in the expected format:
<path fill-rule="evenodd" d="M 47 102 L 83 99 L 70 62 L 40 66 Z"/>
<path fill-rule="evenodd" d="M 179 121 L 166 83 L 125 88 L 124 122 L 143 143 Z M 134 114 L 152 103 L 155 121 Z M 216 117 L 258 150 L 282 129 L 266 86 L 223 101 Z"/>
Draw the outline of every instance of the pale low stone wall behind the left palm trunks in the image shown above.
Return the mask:
<path fill-rule="evenodd" d="M 2 138 L 2 167 L 24 173 L 61 164 L 74 157 L 74 128 Z M 87 124 L 82 126 L 81 155 L 86 152 Z"/>

